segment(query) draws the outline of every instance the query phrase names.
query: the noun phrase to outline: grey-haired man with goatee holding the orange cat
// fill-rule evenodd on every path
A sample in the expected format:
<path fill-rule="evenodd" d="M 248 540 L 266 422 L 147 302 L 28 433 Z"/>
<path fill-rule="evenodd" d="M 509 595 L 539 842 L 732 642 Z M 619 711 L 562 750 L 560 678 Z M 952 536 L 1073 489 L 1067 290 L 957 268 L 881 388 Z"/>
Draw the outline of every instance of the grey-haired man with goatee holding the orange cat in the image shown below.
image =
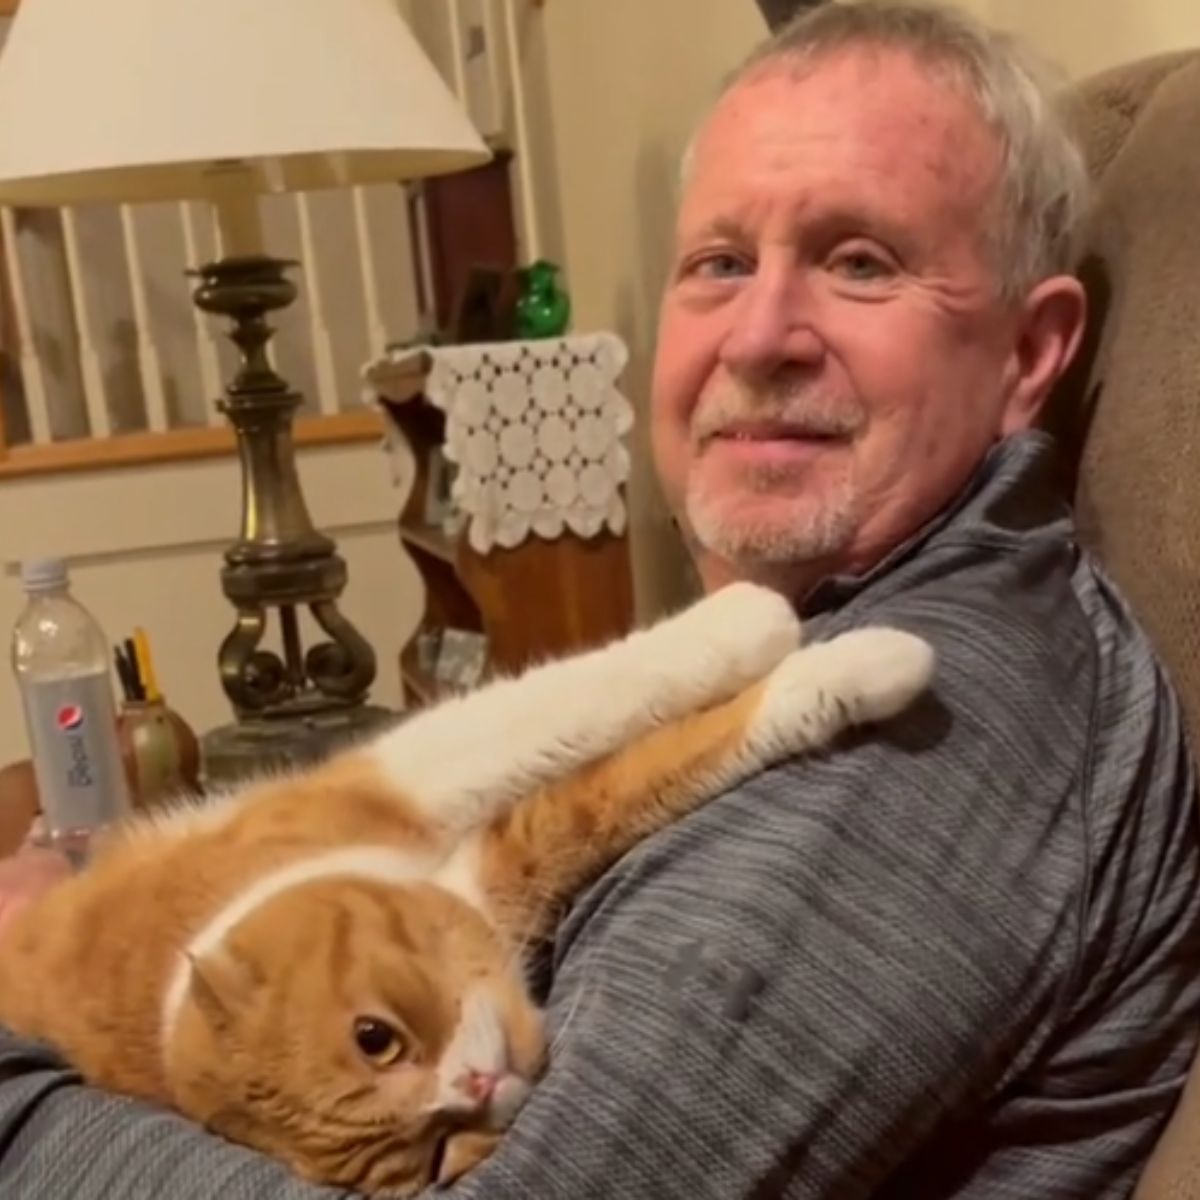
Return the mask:
<path fill-rule="evenodd" d="M 552 1064 L 454 1194 L 1127 1195 L 1194 1045 L 1195 787 L 1152 652 L 1033 432 L 1079 341 L 1079 156 L 1006 41 L 822 8 L 689 156 L 653 437 L 708 588 L 889 623 L 929 703 L 588 890 Z M 8 1045 L 0 1194 L 304 1200 Z"/>

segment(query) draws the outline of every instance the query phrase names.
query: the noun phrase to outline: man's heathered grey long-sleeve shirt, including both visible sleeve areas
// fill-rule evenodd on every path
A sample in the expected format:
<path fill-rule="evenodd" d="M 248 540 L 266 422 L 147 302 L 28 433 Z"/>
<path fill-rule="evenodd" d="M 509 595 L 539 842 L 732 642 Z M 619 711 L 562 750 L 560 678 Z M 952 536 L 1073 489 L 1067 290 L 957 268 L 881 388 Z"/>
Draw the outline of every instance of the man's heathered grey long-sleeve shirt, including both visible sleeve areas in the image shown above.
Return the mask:
<path fill-rule="evenodd" d="M 552 1066 L 464 1200 L 1129 1194 L 1200 1016 L 1195 785 L 1040 434 L 812 598 L 938 653 L 887 730 L 626 856 L 546 974 Z M 0 1196 L 312 1200 L 275 1164 L 0 1043 Z"/>

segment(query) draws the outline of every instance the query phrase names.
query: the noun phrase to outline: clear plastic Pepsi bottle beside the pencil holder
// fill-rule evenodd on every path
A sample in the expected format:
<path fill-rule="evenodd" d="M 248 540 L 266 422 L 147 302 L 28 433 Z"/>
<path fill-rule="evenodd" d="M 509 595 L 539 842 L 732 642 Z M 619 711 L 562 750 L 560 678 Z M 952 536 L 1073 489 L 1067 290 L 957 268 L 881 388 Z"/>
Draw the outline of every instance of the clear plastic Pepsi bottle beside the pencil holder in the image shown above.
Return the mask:
<path fill-rule="evenodd" d="M 47 840 L 72 858 L 91 834 L 130 811 L 116 737 L 108 640 L 71 594 L 58 558 L 22 566 L 28 596 L 12 634 L 12 667 Z"/>

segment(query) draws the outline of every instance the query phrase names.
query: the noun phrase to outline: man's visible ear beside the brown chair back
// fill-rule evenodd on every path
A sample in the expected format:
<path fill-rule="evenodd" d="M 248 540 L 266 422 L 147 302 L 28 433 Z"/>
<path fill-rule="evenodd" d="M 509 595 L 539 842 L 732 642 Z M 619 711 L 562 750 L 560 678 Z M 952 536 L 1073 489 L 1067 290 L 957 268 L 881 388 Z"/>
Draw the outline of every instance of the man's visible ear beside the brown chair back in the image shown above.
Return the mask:
<path fill-rule="evenodd" d="M 1087 295 L 1070 275 L 1043 280 L 1016 314 L 1016 336 L 1009 360 L 1002 430 L 1030 428 L 1054 385 L 1070 365 L 1084 336 Z"/>

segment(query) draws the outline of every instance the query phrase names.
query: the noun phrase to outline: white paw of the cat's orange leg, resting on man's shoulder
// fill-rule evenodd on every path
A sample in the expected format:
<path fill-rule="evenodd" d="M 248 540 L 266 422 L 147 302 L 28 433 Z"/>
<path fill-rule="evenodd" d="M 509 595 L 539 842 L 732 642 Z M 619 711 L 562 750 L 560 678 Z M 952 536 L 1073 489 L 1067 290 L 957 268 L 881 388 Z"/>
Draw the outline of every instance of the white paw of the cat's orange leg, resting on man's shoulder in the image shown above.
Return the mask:
<path fill-rule="evenodd" d="M 847 726 L 895 716 L 934 674 L 934 648 L 898 629 L 868 628 L 790 654 L 770 674 L 751 733 L 791 751 Z"/>

